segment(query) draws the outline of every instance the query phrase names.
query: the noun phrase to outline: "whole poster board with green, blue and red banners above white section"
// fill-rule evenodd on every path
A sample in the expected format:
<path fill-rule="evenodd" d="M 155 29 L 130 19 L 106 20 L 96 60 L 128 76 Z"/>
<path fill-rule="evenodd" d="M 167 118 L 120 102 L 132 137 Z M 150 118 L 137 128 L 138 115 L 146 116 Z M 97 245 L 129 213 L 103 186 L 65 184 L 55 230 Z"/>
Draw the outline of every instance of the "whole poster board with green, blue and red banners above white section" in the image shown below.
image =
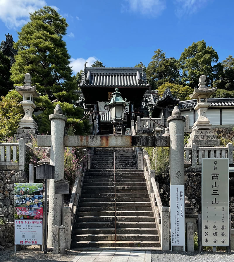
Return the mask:
<path fill-rule="evenodd" d="M 15 183 L 15 245 L 42 245 L 43 184 Z"/>

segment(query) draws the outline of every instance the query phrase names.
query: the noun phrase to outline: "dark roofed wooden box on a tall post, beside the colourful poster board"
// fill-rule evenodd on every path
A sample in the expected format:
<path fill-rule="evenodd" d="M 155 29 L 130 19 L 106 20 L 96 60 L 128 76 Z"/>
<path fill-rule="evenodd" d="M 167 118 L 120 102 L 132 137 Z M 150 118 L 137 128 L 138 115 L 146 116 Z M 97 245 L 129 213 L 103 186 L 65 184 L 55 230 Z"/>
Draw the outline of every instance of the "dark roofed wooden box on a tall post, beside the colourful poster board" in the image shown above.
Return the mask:
<path fill-rule="evenodd" d="M 54 179 L 55 167 L 44 163 L 33 167 L 36 169 L 36 179 L 44 179 L 45 186 L 45 218 L 44 218 L 44 254 L 47 253 L 47 179 Z"/>

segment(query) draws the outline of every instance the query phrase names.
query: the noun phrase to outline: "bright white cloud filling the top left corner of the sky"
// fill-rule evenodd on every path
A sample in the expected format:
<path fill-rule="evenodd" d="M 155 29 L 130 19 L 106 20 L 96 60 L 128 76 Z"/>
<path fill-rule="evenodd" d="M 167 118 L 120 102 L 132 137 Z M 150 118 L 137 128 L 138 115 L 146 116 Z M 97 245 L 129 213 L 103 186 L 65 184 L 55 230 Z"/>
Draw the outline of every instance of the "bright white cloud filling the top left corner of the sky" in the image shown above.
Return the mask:
<path fill-rule="evenodd" d="M 0 19 L 9 29 L 23 26 L 29 21 L 29 13 L 46 5 L 45 0 L 0 0 Z"/>

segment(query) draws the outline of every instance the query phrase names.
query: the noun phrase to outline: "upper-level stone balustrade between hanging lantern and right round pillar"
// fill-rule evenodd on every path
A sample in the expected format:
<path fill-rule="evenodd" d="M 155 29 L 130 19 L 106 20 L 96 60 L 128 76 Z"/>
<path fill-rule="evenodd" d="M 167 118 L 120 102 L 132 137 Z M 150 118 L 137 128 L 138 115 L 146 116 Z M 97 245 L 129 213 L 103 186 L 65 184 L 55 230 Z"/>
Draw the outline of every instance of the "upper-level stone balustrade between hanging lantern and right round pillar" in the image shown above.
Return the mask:
<path fill-rule="evenodd" d="M 139 116 L 137 117 L 137 121 L 136 121 L 136 131 L 137 134 L 139 133 L 152 133 L 152 131 L 155 129 L 156 127 L 156 123 L 161 124 L 162 127 L 164 129 L 164 125 L 166 127 L 168 127 L 168 123 L 166 121 L 166 118 L 164 118 L 164 116 L 161 116 L 161 118 L 140 118 Z"/>

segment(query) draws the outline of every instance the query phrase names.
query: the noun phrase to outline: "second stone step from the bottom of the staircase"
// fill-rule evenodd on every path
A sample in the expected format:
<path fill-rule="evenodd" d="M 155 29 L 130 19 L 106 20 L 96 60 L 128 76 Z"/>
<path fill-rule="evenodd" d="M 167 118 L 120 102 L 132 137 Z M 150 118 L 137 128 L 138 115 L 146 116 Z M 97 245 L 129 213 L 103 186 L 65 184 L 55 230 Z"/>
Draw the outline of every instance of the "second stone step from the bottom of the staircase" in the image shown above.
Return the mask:
<path fill-rule="evenodd" d="M 114 234 L 77 234 L 73 241 L 114 241 Z M 159 241 L 155 234 L 116 234 L 116 241 Z"/>

